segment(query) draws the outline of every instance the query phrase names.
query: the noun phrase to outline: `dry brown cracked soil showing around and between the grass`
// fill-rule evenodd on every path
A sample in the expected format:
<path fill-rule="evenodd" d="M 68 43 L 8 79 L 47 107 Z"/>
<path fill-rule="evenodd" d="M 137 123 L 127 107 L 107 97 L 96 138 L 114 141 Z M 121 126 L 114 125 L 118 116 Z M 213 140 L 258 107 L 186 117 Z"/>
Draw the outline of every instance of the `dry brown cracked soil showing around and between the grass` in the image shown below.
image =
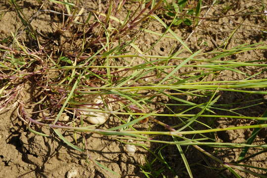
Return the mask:
<path fill-rule="evenodd" d="M 211 6 L 211 1 L 208 0 L 204 3 L 207 7 L 203 8 L 201 16 L 204 16 L 208 11 L 207 17 L 219 14 L 219 12 L 224 12 L 222 15 L 235 14 L 236 12 L 247 8 L 253 4 L 258 3 L 258 0 L 231 0 L 228 2 L 220 1 L 217 4 Z M 267 1 L 264 1 L 265 9 L 267 9 Z M 19 1 L 18 4 L 23 10 L 23 13 L 30 18 L 39 8 L 40 3 L 36 0 L 23 0 Z M 47 3 L 48 4 L 48 3 Z M 96 5 L 96 3 L 89 2 L 91 6 Z M 232 8 L 228 8 L 232 7 Z M 43 7 L 43 9 L 49 8 L 48 5 Z M 253 12 L 262 12 L 264 9 L 262 3 L 251 7 Z M 159 12 L 160 13 L 160 12 Z M 221 14 L 219 14 L 221 15 Z M 55 18 L 52 14 L 42 13 L 35 20 L 32 21 L 33 28 L 38 29 L 39 32 L 48 34 L 55 32 L 56 27 L 51 23 L 52 19 Z M 54 20 L 54 19 L 53 19 Z M 5 43 L 5 39 L 10 39 L 10 32 L 15 33 L 18 28 L 21 27 L 20 19 L 13 7 L 11 7 L 7 2 L 0 2 L 0 40 L 1 43 Z M 177 26 L 172 29 L 175 33 L 186 40 L 187 37 L 192 33 L 192 36 L 188 38 L 187 44 L 193 50 L 204 48 L 205 51 L 211 51 L 212 49 L 223 44 L 225 40 L 228 41 L 226 48 L 231 48 L 236 45 L 242 44 L 253 44 L 253 43 L 266 43 L 267 33 L 267 19 L 264 15 L 251 15 L 251 16 L 231 16 L 219 19 L 207 19 L 201 22 L 201 25 L 196 29 L 188 26 Z M 149 30 L 162 33 L 164 29 L 157 22 L 151 21 L 148 27 Z M 230 34 L 236 30 L 233 36 L 227 39 Z M 67 37 L 66 37 L 67 38 Z M 151 45 L 153 45 L 159 37 L 147 33 L 140 33 L 139 38 L 136 40 L 135 44 L 140 45 L 140 50 L 145 51 Z M 27 41 L 27 36 L 22 34 L 22 40 Z M 142 45 L 144 44 L 144 45 Z M 31 45 L 29 43 L 29 45 Z M 180 47 L 179 43 L 174 39 L 164 39 L 157 43 L 154 48 L 150 51 L 151 55 L 168 55 L 169 51 L 173 49 L 178 49 Z M 187 55 L 183 53 L 181 55 Z M 267 60 L 267 51 L 250 51 L 241 53 L 238 55 L 233 55 L 229 59 L 237 59 L 240 61 L 252 61 L 252 60 Z M 135 60 L 136 64 L 142 63 L 141 60 Z M 264 62 L 265 63 L 265 62 Z M 188 72 L 192 69 L 182 68 L 179 73 Z M 256 67 L 241 68 L 242 72 L 248 74 L 254 74 L 259 71 Z M 257 79 L 265 78 L 266 75 L 259 75 Z M 216 80 L 241 80 L 243 75 L 239 75 L 232 71 L 223 71 L 217 76 Z M 0 87 L 1 88 L 1 87 Z M 30 87 L 25 86 L 25 96 L 24 99 L 30 99 L 33 92 Z M 262 95 L 251 95 L 247 97 L 245 94 L 236 94 L 231 92 L 223 92 L 219 103 L 231 103 L 231 102 L 244 102 L 235 107 L 247 106 L 245 101 L 250 101 L 252 99 L 263 99 Z M 188 98 L 193 100 L 193 98 Z M 169 101 L 170 103 L 173 101 Z M 195 101 L 201 103 L 202 101 Z M 256 102 L 254 102 L 256 103 Z M 250 104 L 253 104 L 250 103 Z M 239 110 L 239 113 L 246 116 L 261 116 L 265 109 L 266 103 L 254 106 L 253 108 L 246 108 Z M 222 114 L 219 112 L 218 114 Z M 160 120 L 166 122 L 166 124 L 176 125 L 178 124 L 174 118 L 159 118 Z M 117 122 L 115 118 L 111 118 L 108 122 L 101 126 L 102 128 L 109 128 Z M 16 109 L 9 110 L 0 115 L 0 178 L 66 178 L 68 173 L 77 171 L 76 178 L 104 178 L 108 177 L 102 170 L 93 166 L 91 163 L 86 163 L 84 154 L 71 149 L 68 145 L 57 138 L 52 132 L 45 128 L 36 127 L 35 130 L 43 132 L 45 134 L 51 135 L 50 137 L 43 137 L 40 135 L 33 134 L 27 131 L 26 126 L 17 117 Z M 214 125 L 219 128 L 239 126 L 247 124 L 248 121 L 244 120 L 234 120 L 220 118 L 215 121 Z M 254 124 L 254 123 L 251 123 Z M 143 126 L 140 126 L 143 127 Z M 144 126 L 147 127 L 147 126 Z M 155 126 L 151 124 L 153 130 L 163 130 L 164 128 Z M 244 142 L 248 135 L 252 131 L 250 130 L 237 130 L 237 131 L 227 131 L 223 133 L 215 134 L 215 138 L 221 142 Z M 70 140 L 75 140 L 71 133 L 62 133 L 67 136 Z M 164 140 L 168 138 L 159 136 Z M 78 138 L 78 140 L 81 138 Z M 86 135 L 87 142 L 89 143 L 88 149 L 89 154 L 92 158 L 96 159 L 101 164 L 105 165 L 112 171 L 115 171 L 120 176 L 110 177 L 121 177 L 121 178 L 145 178 L 141 173 L 139 165 L 144 165 L 146 159 L 153 160 L 153 156 L 150 155 L 145 149 L 138 147 L 134 155 L 128 155 L 125 153 L 125 145 L 112 138 L 97 134 Z M 263 130 L 261 134 L 256 138 L 257 144 L 265 144 L 266 130 Z M 150 144 L 151 150 L 158 149 L 161 144 L 146 143 Z M 186 149 L 186 148 L 184 148 Z M 237 159 L 240 153 L 240 149 L 209 149 L 216 156 L 220 157 L 225 162 L 230 162 Z M 177 148 L 173 145 L 166 146 L 162 149 L 162 154 L 166 157 L 166 161 L 170 163 L 175 171 L 180 171 L 179 177 L 185 178 L 186 170 L 183 168 L 183 163 L 176 153 Z M 257 149 L 250 149 L 249 155 L 256 153 Z M 204 177 L 215 177 L 217 175 L 216 170 L 205 168 L 201 165 L 210 166 L 205 163 L 202 155 L 189 148 L 186 151 L 186 156 L 188 157 L 189 164 L 199 163 L 199 165 L 192 167 L 192 172 L 195 178 Z M 252 165 L 255 167 L 266 168 L 267 165 L 267 153 L 264 152 L 259 154 L 243 164 Z M 215 165 L 210 161 L 211 166 Z M 161 163 L 156 164 L 155 169 L 161 168 Z M 204 170 L 203 170 L 204 169 Z M 252 169 L 253 170 L 253 169 Z M 255 171 L 255 170 L 254 170 Z M 256 170 L 257 171 L 257 170 Z M 237 171 L 238 172 L 238 171 Z M 238 172 L 239 173 L 239 172 Z M 257 173 L 266 174 L 264 171 L 257 171 Z M 174 178 L 175 174 L 168 173 L 165 171 L 165 175 L 168 178 Z M 252 175 L 246 175 L 240 172 L 240 175 L 246 178 L 253 178 Z M 231 177 L 230 174 L 226 176 Z"/>

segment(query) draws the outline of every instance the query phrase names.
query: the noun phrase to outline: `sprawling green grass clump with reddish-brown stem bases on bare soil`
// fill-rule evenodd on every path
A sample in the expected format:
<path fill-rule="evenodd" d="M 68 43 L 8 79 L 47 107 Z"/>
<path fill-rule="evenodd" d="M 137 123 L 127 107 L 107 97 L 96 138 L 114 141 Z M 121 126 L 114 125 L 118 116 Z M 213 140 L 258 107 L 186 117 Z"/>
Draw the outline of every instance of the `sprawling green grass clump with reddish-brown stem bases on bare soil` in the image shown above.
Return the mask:
<path fill-rule="evenodd" d="M 162 153 L 169 145 L 176 145 L 176 152 L 181 156 L 184 164 L 184 167 L 180 168 L 181 175 L 190 178 L 196 174 L 195 170 L 192 172 L 196 165 L 218 169 L 221 176 L 225 174 L 223 170 L 228 170 L 237 178 L 241 177 L 238 171 L 261 178 L 267 177 L 257 172 L 267 171 L 265 168 L 253 167 L 256 171 L 251 171 L 248 169 L 251 165 L 239 164 L 249 157 L 249 148 L 258 148 L 259 152 L 266 150 L 266 144 L 253 142 L 259 131 L 267 128 L 266 113 L 259 117 L 245 116 L 238 112 L 242 109 L 238 103 L 217 104 L 223 92 L 244 93 L 245 97 L 267 94 L 267 79 L 264 77 L 267 64 L 261 61 L 223 60 L 247 51 L 266 50 L 266 44 L 242 44 L 229 48 L 227 43 L 236 33 L 235 29 L 218 48 L 209 52 L 204 52 L 203 49 L 192 51 L 172 30 L 172 26 L 179 25 L 178 20 L 181 23 L 189 20 L 197 27 L 203 5 L 201 1 L 195 7 L 190 7 L 192 13 L 190 11 L 190 14 L 184 14 L 188 16 L 184 17 L 186 20 L 180 16 L 180 13 L 186 11 L 183 8 L 188 8 L 186 4 L 189 2 L 186 0 L 178 0 L 178 4 L 172 4 L 173 7 L 163 0 L 141 0 L 135 2 L 132 8 L 129 6 L 134 1 L 110 0 L 106 2 L 107 6 L 101 6 L 101 11 L 79 5 L 79 0 L 49 1 L 45 3 L 52 4 L 54 8 L 40 9 L 38 12 L 49 12 L 61 18 L 56 24 L 56 31 L 50 35 L 41 34 L 32 27 L 31 22 L 38 17 L 38 13 L 32 18 L 26 18 L 17 2 L 10 1 L 23 26 L 12 34 L 12 41 L 7 38 L 9 43 L 0 45 L 0 112 L 17 107 L 17 115 L 29 131 L 50 136 L 35 131 L 36 127 L 50 128 L 67 145 L 86 152 L 88 162 L 115 175 L 117 173 L 91 158 L 87 151 L 86 134 L 106 135 L 124 143 L 129 139 L 135 140 L 135 145 L 145 148 L 154 156 L 152 160 L 147 160 L 145 165 L 140 165 L 141 171 L 148 178 L 165 177 L 166 170 L 171 170 L 174 176 L 177 174 L 176 168 L 166 161 Z M 171 13 L 169 22 L 160 14 L 165 7 L 168 7 L 167 10 Z M 238 15 L 242 15 L 241 13 L 243 12 Z M 118 18 L 121 14 L 126 16 Z M 152 21 L 161 24 L 165 31 L 160 34 L 149 30 L 146 23 Z M 159 40 L 146 51 L 142 51 L 141 46 L 135 43 L 139 32 L 158 36 Z M 26 33 L 35 45 L 26 45 L 26 42 L 20 39 L 22 33 Z M 169 51 L 166 56 L 149 54 L 157 43 L 168 38 L 176 40 L 181 49 Z M 188 51 L 185 53 L 187 56 L 179 57 L 184 51 Z M 134 60 L 142 63 L 136 64 Z M 258 67 L 258 70 L 251 75 L 242 70 L 245 67 Z M 183 68 L 190 70 L 181 72 Z M 243 79 L 216 80 L 223 71 L 231 71 Z M 26 102 L 23 96 L 27 86 L 38 93 L 30 102 Z M 100 95 L 103 102 L 81 102 L 87 95 Z M 158 101 L 162 96 L 168 99 Z M 182 96 L 195 99 L 183 99 Z M 114 104 L 113 110 L 79 107 L 107 104 Z M 257 100 L 256 103 L 248 104 L 242 106 L 243 109 L 264 102 Z M 100 126 L 94 129 L 86 122 L 86 116 L 82 115 L 81 111 L 107 113 L 118 122 L 114 127 L 105 129 Z M 219 114 L 221 111 L 225 114 Z M 69 122 L 62 121 L 62 114 L 73 119 Z M 176 122 L 169 125 L 161 118 L 175 118 Z M 247 120 L 246 123 L 253 121 L 257 124 L 217 128 L 213 124 L 217 118 Z M 205 122 L 205 119 L 212 122 Z M 142 125 L 140 122 L 145 122 L 144 125 L 148 122 L 153 126 L 161 126 L 164 131 L 150 130 L 149 127 L 139 130 Z M 220 142 L 215 139 L 215 133 L 218 132 L 248 129 L 252 129 L 253 133 L 242 143 Z M 75 138 L 82 135 L 82 142 L 77 142 L 76 139 L 70 141 L 63 136 L 65 131 L 71 132 Z M 168 139 L 157 139 L 160 135 Z M 161 146 L 151 150 L 149 143 L 160 143 Z M 192 164 L 185 154 L 189 147 L 201 152 L 208 166 L 202 163 Z M 242 153 L 238 162 L 224 162 L 207 151 L 214 147 L 239 148 Z M 216 164 L 212 164 L 210 160 Z M 161 168 L 155 170 L 154 164 L 161 165 Z"/>

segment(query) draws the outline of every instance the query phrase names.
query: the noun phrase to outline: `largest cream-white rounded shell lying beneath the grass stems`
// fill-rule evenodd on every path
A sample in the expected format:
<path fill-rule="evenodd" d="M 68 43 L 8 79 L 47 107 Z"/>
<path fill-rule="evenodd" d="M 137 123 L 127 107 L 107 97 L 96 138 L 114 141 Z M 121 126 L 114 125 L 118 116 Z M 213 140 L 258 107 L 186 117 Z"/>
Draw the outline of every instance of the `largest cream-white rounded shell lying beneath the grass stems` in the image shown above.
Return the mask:
<path fill-rule="evenodd" d="M 99 105 L 81 106 L 80 109 L 86 109 L 86 110 L 99 109 L 99 110 L 104 110 L 104 111 L 111 111 L 111 105 L 103 104 L 104 102 L 100 95 L 92 95 L 90 97 L 87 97 L 84 102 L 88 104 L 99 104 Z M 100 125 L 100 124 L 105 123 L 107 119 L 109 118 L 109 113 L 94 112 L 94 111 L 80 111 L 80 113 L 91 124 Z"/>

